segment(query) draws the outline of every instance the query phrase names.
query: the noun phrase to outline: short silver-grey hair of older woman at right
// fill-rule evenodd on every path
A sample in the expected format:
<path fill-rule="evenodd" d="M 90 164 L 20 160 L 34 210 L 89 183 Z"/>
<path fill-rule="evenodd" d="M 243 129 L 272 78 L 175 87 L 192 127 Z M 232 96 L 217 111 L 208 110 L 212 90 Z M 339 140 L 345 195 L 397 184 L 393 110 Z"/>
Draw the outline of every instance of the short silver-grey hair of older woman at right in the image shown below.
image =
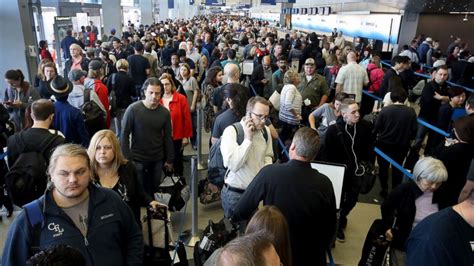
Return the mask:
<path fill-rule="evenodd" d="M 441 183 L 448 180 L 448 171 L 442 161 L 427 156 L 416 162 L 413 178 L 417 182 L 424 179 L 433 183 Z"/>

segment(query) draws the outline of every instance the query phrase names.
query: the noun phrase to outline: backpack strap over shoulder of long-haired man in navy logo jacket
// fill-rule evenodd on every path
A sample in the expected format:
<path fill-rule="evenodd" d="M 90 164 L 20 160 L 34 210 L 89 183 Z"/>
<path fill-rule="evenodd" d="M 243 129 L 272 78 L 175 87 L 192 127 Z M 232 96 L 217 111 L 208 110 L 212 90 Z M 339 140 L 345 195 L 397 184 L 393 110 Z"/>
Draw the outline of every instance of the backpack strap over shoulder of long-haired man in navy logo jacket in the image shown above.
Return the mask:
<path fill-rule="evenodd" d="M 31 229 L 31 254 L 39 251 L 41 229 L 44 227 L 44 214 L 41 204 L 42 201 L 37 199 L 23 206 L 28 219 L 28 226 Z"/>

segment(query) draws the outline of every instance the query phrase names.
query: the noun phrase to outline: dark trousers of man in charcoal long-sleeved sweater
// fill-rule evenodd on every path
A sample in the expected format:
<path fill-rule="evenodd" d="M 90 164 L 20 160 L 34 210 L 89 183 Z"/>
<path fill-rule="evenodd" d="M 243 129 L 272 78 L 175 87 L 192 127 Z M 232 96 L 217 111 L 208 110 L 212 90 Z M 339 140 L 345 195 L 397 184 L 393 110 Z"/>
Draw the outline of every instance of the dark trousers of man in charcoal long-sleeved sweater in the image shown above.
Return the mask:
<path fill-rule="evenodd" d="M 158 191 L 161 184 L 161 172 L 163 164 L 161 161 L 156 162 L 138 162 L 134 161 L 137 168 L 137 179 L 145 192 L 154 199 L 154 193 Z"/>

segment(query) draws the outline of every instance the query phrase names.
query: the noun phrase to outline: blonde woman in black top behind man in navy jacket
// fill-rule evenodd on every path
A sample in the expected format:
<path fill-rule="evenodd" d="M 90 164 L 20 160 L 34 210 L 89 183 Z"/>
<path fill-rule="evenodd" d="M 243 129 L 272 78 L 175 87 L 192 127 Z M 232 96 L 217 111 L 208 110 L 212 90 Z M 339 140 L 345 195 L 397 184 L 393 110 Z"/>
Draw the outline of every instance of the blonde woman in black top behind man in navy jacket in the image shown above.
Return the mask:
<path fill-rule="evenodd" d="M 87 153 L 94 183 L 117 192 L 130 206 L 135 220 L 140 225 L 140 207 L 149 205 L 156 208 L 159 203 L 152 200 L 143 190 L 135 165 L 125 159 L 114 132 L 104 129 L 95 133 Z"/>

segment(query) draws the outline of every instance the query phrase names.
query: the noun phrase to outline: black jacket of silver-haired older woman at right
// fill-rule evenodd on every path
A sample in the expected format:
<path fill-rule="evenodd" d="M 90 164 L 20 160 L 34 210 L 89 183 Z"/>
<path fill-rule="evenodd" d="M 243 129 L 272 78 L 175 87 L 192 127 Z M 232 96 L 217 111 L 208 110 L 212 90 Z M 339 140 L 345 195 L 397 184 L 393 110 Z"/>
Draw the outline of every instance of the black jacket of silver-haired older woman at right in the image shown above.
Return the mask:
<path fill-rule="evenodd" d="M 415 182 L 404 183 L 390 192 L 380 207 L 385 231 L 392 228 L 394 217 L 397 217 L 395 227 L 392 229 L 392 247 L 405 251 L 405 242 L 415 220 L 415 200 L 421 195 L 423 191 Z M 433 203 L 438 203 L 439 210 L 449 206 L 442 188 L 433 193 Z"/>

